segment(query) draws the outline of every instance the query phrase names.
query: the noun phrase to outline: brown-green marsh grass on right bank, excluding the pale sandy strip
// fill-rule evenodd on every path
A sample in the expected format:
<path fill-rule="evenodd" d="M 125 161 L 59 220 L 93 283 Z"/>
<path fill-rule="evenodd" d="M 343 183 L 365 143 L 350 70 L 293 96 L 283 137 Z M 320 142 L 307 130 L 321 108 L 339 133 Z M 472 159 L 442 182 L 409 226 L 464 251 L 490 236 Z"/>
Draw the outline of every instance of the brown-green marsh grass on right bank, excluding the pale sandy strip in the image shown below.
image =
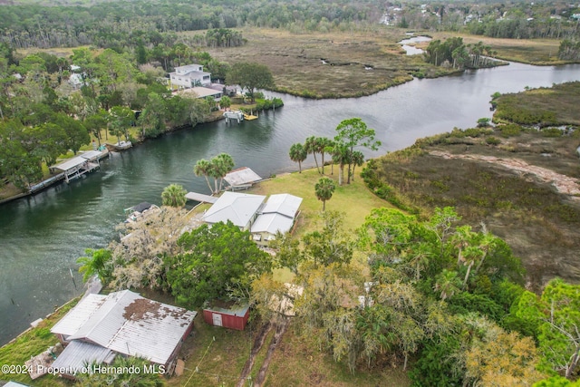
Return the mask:
<path fill-rule="evenodd" d="M 378 179 L 393 196 L 420 208 L 423 215 L 435 207 L 453 206 L 463 222 L 473 227 L 484 222 L 522 259 L 531 286 L 538 288 L 554 276 L 577 282 L 580 203 L 575 197 L 558 193 L 551 183 L 531 173 L 483 160 L 446 159 L 430 151 L 523 160 L 577 179 L 579 140 L 573 133 L 545 137 L 543 131 L 502 133 L 501 128 L 480 137 L 456 134 L 420 140 L 420 150 L 415 146 L 414 151 L 397 151 L 376 160 Z M 501 145 L 489 144 L 499 138 Z"/>

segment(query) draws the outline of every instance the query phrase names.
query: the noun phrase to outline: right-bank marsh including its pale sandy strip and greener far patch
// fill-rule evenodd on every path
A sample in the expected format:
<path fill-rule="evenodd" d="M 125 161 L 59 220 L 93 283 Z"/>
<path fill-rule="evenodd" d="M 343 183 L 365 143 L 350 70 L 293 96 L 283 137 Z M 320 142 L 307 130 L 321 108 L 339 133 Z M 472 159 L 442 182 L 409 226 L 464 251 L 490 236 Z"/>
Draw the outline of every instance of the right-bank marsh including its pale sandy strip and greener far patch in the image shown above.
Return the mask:
<path fill-rule="evenodd" d="M 578 86 L 571 82 L 498 98 L 512 120 L 551 118 L 562 127 L 509 123 L 417 140 L 370 163 L 364 176 L 382 198 L 429 214 L 457 208 L 462 221 L 503 238 L 539 290 L 556 276 L 580 282 L 580 122 Z"/>

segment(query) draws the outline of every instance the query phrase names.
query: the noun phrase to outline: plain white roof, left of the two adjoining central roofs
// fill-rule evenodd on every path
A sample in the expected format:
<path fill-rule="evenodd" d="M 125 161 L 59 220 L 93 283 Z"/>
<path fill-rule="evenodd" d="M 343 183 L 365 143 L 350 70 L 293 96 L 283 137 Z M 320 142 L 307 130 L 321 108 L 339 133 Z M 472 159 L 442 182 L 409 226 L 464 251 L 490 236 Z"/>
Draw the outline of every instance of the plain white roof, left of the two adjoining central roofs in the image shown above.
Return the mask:
<path fill-rule="evenodd" d="M 230 220 L 237 227 L 246 227 L 265 198 L 263 195 L 224 192 L 208 209 L 203 220 L 210 224 Z"/>

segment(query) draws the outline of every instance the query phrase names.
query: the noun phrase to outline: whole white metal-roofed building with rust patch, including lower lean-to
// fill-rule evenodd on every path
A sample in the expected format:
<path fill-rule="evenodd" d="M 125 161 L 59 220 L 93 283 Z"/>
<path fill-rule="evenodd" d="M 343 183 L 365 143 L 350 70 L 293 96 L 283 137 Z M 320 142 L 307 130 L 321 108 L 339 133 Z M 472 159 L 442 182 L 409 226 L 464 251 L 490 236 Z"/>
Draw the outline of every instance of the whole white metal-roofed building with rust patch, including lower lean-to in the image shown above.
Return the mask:
<path fill-rule="evenodd" d="M 68 343 L 54 364 L 74 370 L 84 361 L 111 363 L 121 353 L 144 357 L 170 372 L 196 315 L 130 290 L 88 295 L 51 329 Z"/>

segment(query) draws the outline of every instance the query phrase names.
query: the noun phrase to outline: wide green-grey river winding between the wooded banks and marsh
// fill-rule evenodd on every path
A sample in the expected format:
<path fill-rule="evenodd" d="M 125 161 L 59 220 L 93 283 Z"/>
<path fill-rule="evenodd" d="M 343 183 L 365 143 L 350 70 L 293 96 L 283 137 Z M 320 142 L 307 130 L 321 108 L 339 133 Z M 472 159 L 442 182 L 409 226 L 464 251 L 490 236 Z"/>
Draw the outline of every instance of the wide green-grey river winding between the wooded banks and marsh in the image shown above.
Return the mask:
<path fill-rule="evenodd" d="M 333 137 L 340 121 L 360 117 L 382 141 L 375 157 L 400 150 L 416 139 L 469 128 L 491 117 L 490 95 L 520 92 L 580 80 L 580 65 L 509 66 L 439 79 L 414 80 L 369 97 L 306 100 L 285 94 L 285 106 L 256 121 L 198 125 L 150 140 L 102 162 L 100 172 L 47 189 L 34 197 L 0 206 L 0 344 L 39 317 L 82 293 L 76 258 L 87 247 L 106 247 L 123 220 L 123 208 L 147 200 L 160 204 L 170 183 L 208 193 L 205 179 L 193 174 L 196 160 L 231 154 L 237 167 L 260 176 L 297 169 L 290 145 L 310 135 Z M 314 165 L 307 160 L 306 166 Z M 70 271 L 73 271 L 74 281 Z"/>

